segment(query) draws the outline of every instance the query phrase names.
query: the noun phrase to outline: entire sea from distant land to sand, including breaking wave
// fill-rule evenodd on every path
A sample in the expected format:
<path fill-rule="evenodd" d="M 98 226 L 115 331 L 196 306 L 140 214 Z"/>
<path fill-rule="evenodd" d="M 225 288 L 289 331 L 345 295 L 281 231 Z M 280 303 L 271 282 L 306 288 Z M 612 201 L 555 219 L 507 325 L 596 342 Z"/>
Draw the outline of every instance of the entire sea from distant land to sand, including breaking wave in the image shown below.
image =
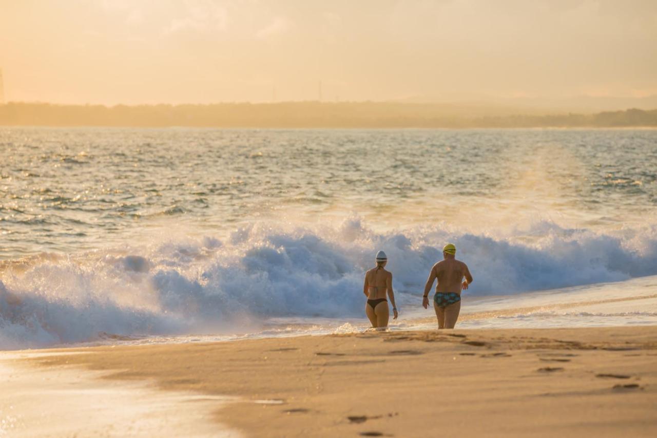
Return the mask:
<path fill-rule="evenodd" d="M 0 128 L 0 349 L 657 324 L 657 130 Z"/>

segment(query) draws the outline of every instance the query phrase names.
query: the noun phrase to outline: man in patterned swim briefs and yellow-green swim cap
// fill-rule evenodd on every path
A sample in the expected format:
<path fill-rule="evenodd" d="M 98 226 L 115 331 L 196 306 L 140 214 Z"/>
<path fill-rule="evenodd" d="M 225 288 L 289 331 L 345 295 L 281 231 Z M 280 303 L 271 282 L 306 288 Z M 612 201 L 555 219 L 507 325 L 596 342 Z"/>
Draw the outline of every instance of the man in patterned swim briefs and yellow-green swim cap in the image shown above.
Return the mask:
<path fill-rule="evenodd" d="M 438 318 L 438 328 L 454 328 L 456 320 L 459 319 L 461 312 L 461 290 L 468 289 L 472 283 L 472 276 L 468 266 L 457 260 L 456 247 L 447 243 L 443 248 L 443 258 L 440 262 L 434 264 L 429 273 L 429 278 L 424 285 L 424 296 L 422 297 L 422 306 L 429 306 L 429 291 L 438 279 L 436 285 L 436 295 L 434 295 L 434 310 Z M 461 283 L 465 277 L 465 281 Z"/>

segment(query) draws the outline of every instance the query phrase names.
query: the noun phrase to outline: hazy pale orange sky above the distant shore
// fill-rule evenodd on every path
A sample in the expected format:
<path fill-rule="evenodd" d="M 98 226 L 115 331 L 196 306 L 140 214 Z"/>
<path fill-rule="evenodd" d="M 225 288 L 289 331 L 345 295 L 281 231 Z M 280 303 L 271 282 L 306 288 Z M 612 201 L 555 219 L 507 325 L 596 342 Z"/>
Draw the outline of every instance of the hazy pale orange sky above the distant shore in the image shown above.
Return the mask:
<path fill-rule="evenodd" d="M 6 101 L 657 94 L 655 0 L 0 0 Z"/>

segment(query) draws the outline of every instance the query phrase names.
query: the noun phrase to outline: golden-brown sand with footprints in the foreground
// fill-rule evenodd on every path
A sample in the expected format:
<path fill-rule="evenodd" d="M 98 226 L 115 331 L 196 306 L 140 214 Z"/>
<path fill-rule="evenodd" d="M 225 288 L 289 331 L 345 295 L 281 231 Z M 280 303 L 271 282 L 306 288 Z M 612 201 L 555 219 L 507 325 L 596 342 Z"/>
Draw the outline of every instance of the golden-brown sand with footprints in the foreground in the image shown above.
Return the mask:
<path fill-rule="evenodd" d="M 57 354 L 74 352 L 83 354 Z M 85 368 L 106 385 L 151 381 L 164 393 L 228 396 L 234 401 L 212 411 L 217 433 L 227 426 L 246 437 L 657 434 L 654 326 L 367 332 L 47 353 L 55 354 L 21 364 Z"/>

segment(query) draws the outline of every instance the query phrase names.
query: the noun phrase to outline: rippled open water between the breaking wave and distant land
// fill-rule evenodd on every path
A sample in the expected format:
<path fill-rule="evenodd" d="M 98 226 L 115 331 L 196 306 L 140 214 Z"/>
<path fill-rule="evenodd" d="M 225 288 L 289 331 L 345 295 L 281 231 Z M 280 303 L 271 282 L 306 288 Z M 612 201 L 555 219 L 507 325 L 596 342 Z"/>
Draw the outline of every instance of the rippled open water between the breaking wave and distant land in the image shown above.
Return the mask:
<path fill-rule="evenodd" d="M 281 215 L 604 226 L 657 205 L 654 130 L 3 128 L 0 154 L 2 258 Z"/>

